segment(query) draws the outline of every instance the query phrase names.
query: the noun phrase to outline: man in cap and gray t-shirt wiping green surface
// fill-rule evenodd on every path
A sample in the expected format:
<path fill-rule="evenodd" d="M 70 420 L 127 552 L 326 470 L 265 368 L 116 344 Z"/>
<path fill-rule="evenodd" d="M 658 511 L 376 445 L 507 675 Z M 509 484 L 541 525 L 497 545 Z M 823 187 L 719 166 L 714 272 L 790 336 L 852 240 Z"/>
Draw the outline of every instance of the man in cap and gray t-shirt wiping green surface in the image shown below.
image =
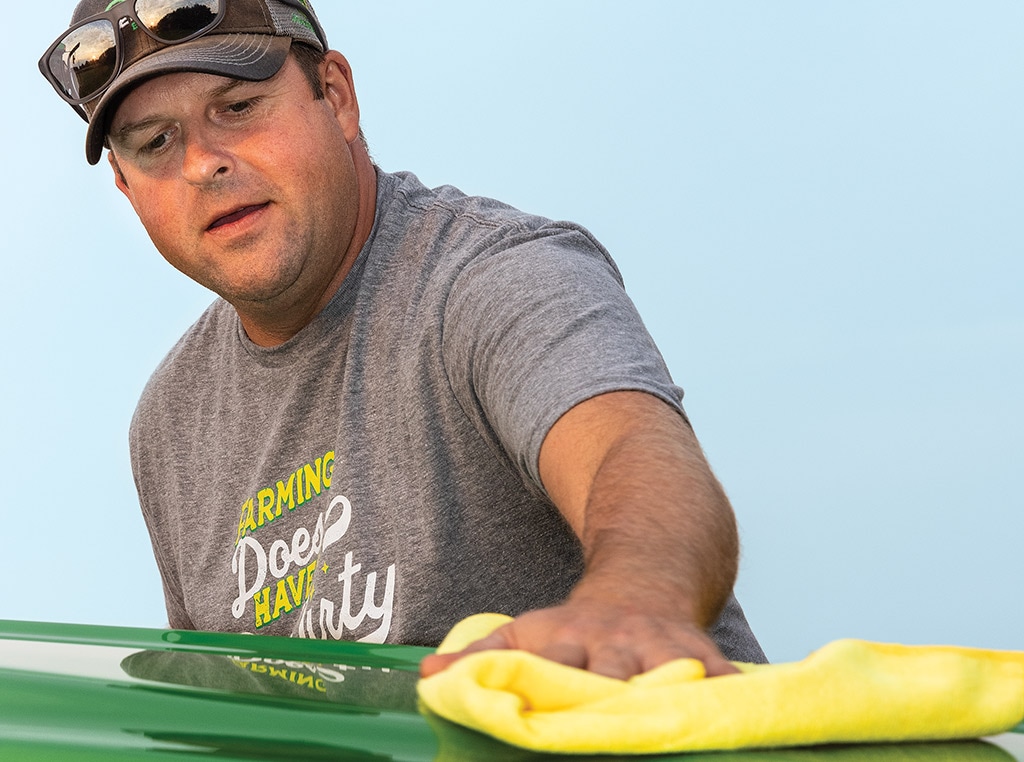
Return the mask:
<path fill-rule="evenodd" d="M 495 610 L 470 650 L 763 661 L 731 508 L 589 232 L 375 167 L 302 0 L 83 0 L 40 67 L 221 297 L 131 429 L 172 627 L 435 644 Z"/>

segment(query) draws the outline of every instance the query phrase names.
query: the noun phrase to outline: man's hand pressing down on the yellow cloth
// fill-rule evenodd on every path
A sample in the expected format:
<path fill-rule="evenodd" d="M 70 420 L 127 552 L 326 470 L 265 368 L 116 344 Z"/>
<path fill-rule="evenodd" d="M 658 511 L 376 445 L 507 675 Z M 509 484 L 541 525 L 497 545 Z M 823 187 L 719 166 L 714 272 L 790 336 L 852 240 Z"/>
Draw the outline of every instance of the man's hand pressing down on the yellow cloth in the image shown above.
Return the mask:
<path fill-rule="evenodd" d="M 691 622 L 570 599 L 524 613 L 457 653 L 429 655 L 420 674 L 429 677 L 470 653 L 507 648 L 621 680 L 684 658 L 700 660 L 709 677 L 738 672 Z"/>

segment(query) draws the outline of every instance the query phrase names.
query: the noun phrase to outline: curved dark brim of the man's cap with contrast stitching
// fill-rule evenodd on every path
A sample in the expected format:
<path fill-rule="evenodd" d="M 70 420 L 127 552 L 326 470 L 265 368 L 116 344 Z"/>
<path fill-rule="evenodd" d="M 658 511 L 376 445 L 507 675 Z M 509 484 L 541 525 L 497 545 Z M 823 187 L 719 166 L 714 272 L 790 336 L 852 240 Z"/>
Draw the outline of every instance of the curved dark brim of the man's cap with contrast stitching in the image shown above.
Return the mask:
<path fill-rule="evenodd" d="M 85 134 L 85 157 L 96 164 L 103 155 L 106 140 L 108 112 L 145 80 L 175 72 L 198 72 L 221 77 L 262 81 L 281 71 L 288 58 L 292 38 L 271 35 L 208 35 L 191 42 L 171 45 L 142 58 L 123 71 L 114 84 L 90 109 L 89 128 Z"/>

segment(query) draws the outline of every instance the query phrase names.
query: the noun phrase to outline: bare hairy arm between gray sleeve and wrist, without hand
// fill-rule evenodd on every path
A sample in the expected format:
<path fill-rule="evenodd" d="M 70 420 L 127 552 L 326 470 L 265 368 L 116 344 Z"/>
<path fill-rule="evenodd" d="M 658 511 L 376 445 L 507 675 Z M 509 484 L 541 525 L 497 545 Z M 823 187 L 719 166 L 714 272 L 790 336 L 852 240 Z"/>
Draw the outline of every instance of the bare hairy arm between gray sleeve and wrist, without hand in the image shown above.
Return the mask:
<path fill-rule="evenodd" d="M 603 447 L 592 449 L 590 437 Z M 735 582 L 736 525 L 678 413 L 642 392 L 606 394 L 570 411 L 545 449 L 542 477 L 585 550 L 573 597 L 674 610 L 710 625 Z M 563 478 L 567 454 L 588 452 L 597 455 L 585 462 L 584 477 Z"/>

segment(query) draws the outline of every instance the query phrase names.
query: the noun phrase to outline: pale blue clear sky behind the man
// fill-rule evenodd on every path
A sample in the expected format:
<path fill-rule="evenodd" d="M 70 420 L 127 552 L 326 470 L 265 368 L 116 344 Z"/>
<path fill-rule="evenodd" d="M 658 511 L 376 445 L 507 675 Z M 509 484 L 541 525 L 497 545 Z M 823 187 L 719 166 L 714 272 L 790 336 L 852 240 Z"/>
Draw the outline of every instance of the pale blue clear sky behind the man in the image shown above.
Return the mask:
<path fill-rule="evenodd" d="M 733 500 L 769 657 L 1024 648 L 1024 5 L 318 5 L 385 169 L 611 250 Z M 35 69 L 72 6 L 4 56 L 0 618 L 155 627 L 125 432 L 210 297 Z"/>

